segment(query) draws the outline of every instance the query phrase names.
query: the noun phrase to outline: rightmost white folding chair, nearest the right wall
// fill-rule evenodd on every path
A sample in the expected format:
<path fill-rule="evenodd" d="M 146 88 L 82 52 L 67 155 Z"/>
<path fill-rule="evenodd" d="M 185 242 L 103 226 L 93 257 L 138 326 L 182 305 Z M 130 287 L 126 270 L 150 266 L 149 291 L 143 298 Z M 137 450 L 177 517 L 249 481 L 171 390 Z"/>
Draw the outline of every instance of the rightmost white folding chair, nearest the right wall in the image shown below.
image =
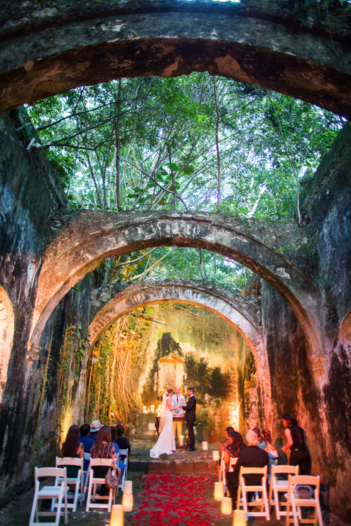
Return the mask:
<path fill-rule="evenodd" d="M 296 493 L 296 486 L 298 484 L 307 484 L 308 486 L 315 486 L 313 491 L 314 498 L 299 498 Z M 319 526 L 323 526 L 322 512 L 320 511 L 320 502 L 319 502 L 319 489 L 320 489 L 320 479 L 319 475 L 316 477 L 310 475 L 298 475 L 298 476 L 288 476 L 288 503 L 286 505 L 286 526 L 289 526 L 290 522 L 293 522 L 294 526 L 298 526 L 298 520 L 304 524 L 313 524 L 317 526 L 317 521 Z M 293 517 L 290 517 L 290 506 L 293 511 Z M 302 519 L 301 513 L 299 513 L 299 508 L 315 508 L 315 516 L 313 519 Z"/>

